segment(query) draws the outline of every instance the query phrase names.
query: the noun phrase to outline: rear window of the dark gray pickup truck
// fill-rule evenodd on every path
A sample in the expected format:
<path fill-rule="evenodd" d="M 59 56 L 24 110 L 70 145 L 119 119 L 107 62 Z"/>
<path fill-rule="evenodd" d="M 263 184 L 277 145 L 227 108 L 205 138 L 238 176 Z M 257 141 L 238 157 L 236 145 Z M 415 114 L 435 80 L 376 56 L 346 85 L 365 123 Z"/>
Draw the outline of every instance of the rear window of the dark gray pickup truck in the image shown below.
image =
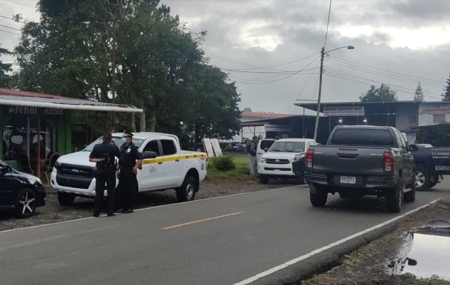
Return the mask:
<path fill-rule="evenodd" d="M 339 128 L 331 138 L 331 145 L 383 145 L 395 146 L 390 130 L 372 128 Z"/>

